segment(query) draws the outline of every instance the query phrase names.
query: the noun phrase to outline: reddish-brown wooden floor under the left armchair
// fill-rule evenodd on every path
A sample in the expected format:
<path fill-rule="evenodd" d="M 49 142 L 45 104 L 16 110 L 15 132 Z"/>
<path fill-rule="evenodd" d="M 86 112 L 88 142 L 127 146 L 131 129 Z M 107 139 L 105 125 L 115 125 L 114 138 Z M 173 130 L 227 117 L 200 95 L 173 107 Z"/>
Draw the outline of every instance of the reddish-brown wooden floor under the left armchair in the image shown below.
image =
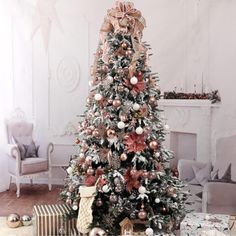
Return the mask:
<path fill-rule="evenodd" d="M 8 216 L 11 213 L 32 216 L 32 209 L 37 204 L 59 204 L 59 193 L 62 186 L 53 185 L 52 191 L 48 185 L 22 184 L 21 196 L 16 197 L 16 186 L 11 184 L 10 190 L 0 193 L 0 216 Z"/>

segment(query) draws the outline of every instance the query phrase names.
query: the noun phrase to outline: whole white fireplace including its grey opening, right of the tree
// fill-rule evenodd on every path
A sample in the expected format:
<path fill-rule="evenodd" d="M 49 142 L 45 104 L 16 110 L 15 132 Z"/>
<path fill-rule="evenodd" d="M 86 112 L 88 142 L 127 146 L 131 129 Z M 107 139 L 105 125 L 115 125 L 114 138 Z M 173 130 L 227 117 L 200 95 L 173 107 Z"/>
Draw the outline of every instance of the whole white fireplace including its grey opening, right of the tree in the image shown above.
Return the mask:
<path fill-rule="evenodd" d="M 170 132 L 166 136 L 166 146 L 178 159 L 201 162 L 211 160 L 213 147 L 212 117 L 218 104 L 209 100 L 161 99 L 159 108 L 164 110 Z"/>

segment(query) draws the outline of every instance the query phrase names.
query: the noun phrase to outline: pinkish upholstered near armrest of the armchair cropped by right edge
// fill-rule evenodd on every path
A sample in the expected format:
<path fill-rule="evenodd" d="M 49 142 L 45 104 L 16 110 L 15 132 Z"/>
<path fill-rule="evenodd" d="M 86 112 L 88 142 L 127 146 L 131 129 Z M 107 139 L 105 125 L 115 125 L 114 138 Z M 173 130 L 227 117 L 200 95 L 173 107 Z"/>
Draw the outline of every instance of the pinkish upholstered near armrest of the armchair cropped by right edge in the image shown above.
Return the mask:
<path fill-rule="evenodd" d="M 236 184 L 224 182 L 208 182 L 203 188 L 202 207 L 207 206 L 236 206 Z"/>

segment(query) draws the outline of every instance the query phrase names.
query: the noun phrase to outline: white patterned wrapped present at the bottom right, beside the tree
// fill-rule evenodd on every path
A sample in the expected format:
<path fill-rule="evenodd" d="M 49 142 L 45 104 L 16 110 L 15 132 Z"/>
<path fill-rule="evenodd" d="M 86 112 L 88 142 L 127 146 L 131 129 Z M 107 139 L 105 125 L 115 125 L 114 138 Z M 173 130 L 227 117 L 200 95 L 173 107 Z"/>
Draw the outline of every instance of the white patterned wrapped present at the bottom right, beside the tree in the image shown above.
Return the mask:
<path fill-rule="evenodd" d="M 230 235 L 229 215 L 189 213 L 180 224 L 180 236 Z"/>

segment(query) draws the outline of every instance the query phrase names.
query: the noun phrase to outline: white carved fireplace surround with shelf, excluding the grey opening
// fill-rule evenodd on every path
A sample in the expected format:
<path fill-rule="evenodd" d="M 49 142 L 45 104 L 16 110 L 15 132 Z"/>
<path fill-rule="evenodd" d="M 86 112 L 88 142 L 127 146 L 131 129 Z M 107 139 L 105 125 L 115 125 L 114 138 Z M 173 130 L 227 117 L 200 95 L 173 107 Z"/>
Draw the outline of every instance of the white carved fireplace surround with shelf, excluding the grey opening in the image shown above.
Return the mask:
<path fill-rule="evenodd" d="M 166 137 L 168 148 L 172 149 L 173 134 L 194 134 L 196 156 L 192 159 L 201 162 L 210 161 L 213 153 L 212 119 L 220 104 L 212 104 L 209 100 L 200 99 L 161 99 L 158 104 L 159 108 L 164 110 L 166 123 L 170 126 L 170 133 Z"/>

